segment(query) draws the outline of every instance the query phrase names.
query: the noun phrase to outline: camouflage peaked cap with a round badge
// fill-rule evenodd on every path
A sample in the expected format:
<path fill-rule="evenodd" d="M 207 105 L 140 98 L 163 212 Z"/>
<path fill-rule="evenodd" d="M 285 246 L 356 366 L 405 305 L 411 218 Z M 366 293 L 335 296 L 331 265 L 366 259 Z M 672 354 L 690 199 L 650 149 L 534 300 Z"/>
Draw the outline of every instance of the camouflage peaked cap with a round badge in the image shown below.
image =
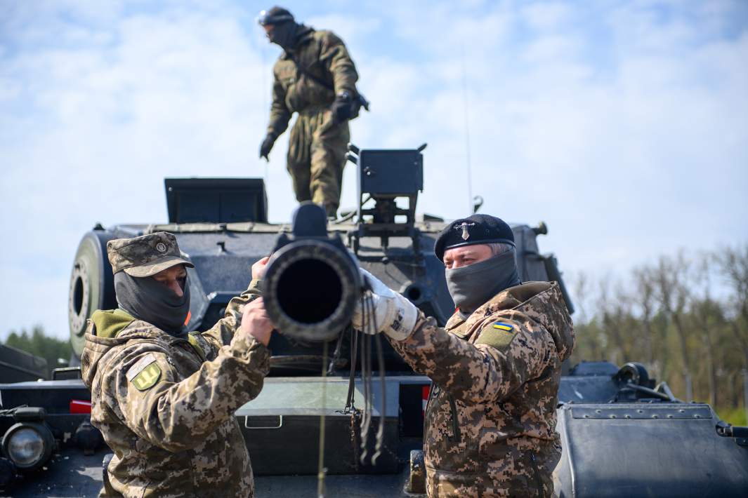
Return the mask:
<path fill-rule="evenodd" d="M 112 273 L 124 271 L 134 277 L 150 277 L 177 264 L 194 268 L 182 258 L 177 237 L 166 231 L 132 239 L 114 239 L 106 243 Z"/>

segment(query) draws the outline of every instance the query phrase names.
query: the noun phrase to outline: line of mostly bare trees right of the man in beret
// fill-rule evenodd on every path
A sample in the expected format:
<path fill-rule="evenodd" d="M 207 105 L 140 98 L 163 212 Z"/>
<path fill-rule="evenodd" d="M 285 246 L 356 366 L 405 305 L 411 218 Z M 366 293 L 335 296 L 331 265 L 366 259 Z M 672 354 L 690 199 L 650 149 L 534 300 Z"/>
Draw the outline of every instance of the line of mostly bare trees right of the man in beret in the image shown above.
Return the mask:
<path fill-rule="evenodd" d="M 639 361 L 684 401 L 745 420 L 748 245 L 662 256 L 622 280 L 573 278 L 572 360 Z"/>

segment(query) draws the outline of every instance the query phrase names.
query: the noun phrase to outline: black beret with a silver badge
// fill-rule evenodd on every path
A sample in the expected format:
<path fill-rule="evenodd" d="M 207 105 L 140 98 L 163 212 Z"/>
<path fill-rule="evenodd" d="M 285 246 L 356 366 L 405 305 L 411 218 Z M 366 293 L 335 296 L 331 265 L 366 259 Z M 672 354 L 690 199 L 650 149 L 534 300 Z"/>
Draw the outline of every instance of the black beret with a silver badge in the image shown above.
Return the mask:
<path fill-rule="evenodd" d="M 512 228 L 497 217 L 488 216 L 488 214 L 473 214 L 471 217 L 451 222 L 441 231 L 434 244 L 434 254 L 439 261 L 443 261 L 444 251 L 447 249 L 494 242 L 514 246 Z"/>

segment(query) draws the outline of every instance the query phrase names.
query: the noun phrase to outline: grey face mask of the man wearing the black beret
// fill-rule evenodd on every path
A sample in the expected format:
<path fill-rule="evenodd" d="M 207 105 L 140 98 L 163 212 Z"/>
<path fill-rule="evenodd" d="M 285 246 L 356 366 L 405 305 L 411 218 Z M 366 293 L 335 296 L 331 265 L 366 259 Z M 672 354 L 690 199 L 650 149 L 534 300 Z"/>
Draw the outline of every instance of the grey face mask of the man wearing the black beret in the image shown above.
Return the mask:
<path fill-rule="evenodd" d="M 473 313 L 502 290 L 520 284 L 515 249 L 467 267 L 445 270 L 447 287 L 463 314 Z"/>

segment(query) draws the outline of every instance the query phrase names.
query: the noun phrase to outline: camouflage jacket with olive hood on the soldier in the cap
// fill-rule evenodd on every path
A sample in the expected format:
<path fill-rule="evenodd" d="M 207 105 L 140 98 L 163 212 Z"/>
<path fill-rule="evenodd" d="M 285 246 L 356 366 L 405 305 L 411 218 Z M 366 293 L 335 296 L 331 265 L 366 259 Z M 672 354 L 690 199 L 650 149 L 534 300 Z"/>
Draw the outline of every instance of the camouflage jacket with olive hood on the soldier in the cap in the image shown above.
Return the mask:
<path fill-rule="evenodd" d="M 252 497 L 254 478 L 233 416 L 269 371 L 269 350 L 236 336 L 253 281 L 206 332 L 174 337 L 122 310 L 96 311 L 81 357 L 91 423 L 114 458 L 101 496 Z"/>

